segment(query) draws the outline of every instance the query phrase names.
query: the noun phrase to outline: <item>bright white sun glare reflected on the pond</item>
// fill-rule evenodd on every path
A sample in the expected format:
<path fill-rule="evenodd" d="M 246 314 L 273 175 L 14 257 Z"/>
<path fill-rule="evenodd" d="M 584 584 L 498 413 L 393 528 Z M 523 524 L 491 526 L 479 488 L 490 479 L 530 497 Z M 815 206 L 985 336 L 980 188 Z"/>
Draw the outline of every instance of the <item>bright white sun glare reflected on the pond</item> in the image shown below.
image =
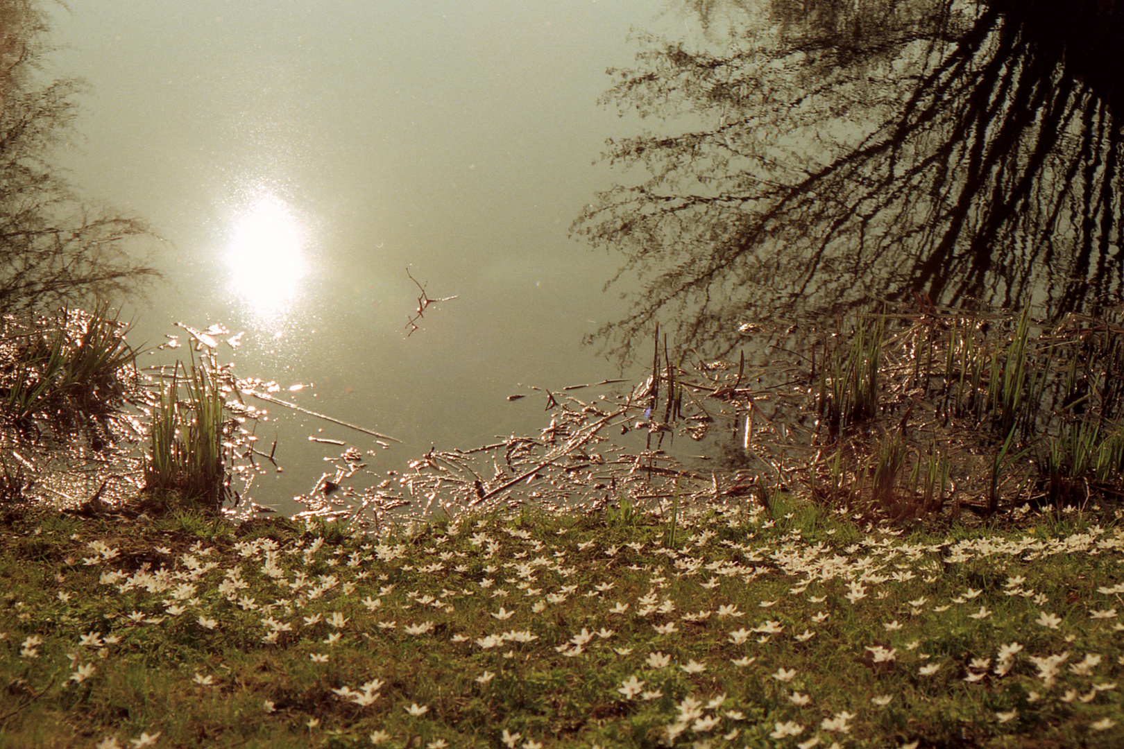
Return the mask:
<path fill-rule="evenodd" d="M 305 275 L 305 236 L 285 203 L 259 199 L 238 217 L 227 250 L 234 286 L 259 312 L 275 312 L 297 291 Z"/>

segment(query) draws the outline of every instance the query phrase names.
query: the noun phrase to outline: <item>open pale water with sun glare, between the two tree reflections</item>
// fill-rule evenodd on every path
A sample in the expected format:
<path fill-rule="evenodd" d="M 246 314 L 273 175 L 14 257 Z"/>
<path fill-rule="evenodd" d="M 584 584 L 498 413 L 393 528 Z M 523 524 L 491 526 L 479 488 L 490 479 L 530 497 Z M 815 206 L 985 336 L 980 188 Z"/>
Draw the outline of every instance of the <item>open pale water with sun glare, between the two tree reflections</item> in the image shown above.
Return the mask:
<path fill-rule="evenodd" d="M 176 322 L 245 331 L 220 348 L 239 375 L 401 440 L 380 473 L 543 427 L 538 399 L 506 400 L 520 383 L 619 374 L 580 340 L 628 287 L 602 292 L 618 262 L 568 229 L 626 127 L 597 104 L 606 68 L 631 62 L 633 26 L 694 34 L 681 16 L 646 0 L 78 0 L 53 19 L 47 74 L 92 85 L 60 163 L 165 240 L 166 282 L 125 310 L 134 345 L 189 342 Z M 411 331 L 414 280 L 454 299 Z M 257 435 L 284 473 L 253 497 L 282 512 L 339 454 L 309 437 L 375 447 L 271 415 Z"/>

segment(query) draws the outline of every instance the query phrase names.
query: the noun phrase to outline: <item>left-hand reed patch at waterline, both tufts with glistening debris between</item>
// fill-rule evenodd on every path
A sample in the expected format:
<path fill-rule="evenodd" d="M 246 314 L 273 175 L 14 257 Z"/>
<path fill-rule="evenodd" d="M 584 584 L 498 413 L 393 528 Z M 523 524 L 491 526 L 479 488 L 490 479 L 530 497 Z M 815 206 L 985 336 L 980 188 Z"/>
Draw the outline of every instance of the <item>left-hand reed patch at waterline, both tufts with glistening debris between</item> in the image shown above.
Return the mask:
<path fill-rule="evenodd" d="M 100 482 L 96 497 L 109 483 L 127 485 L 134 496 L 139 473 L 156 504 L 214 511 L 239 499 L 232 487 L 246 472 L 234 465 L 243 447 L 238 423 L 254 417 L 226 403 L 235 381 L 214 351 L 161 369 L 149 387 L 125 340 L 127 326 L 108 305 L 6 318 L 0 326 L 0 503 L 28 499 L 33 486 L 81 503 L 83 490 L 66 491 L 63 474 L 83 485 Z M 148 442 L 143 459 L 133 454 L 138 439 Z"/>

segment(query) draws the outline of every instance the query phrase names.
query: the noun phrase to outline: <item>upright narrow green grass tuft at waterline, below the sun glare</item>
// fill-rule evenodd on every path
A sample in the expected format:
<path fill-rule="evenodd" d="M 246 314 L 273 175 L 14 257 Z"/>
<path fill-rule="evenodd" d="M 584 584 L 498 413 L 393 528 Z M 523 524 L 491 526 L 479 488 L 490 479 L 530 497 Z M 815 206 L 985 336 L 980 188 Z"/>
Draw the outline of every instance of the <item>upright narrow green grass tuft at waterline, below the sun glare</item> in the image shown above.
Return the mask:
<path fill-rule="evenodd" d="M 182 373 L 182 375 L 181 375 Z M 214 362 L 188 369 L 176 362 L 153 409 L 145 465 L 145 492 L 172 492 L 217 511 L 232 494 L 230 437 L 226 400 Z"/>

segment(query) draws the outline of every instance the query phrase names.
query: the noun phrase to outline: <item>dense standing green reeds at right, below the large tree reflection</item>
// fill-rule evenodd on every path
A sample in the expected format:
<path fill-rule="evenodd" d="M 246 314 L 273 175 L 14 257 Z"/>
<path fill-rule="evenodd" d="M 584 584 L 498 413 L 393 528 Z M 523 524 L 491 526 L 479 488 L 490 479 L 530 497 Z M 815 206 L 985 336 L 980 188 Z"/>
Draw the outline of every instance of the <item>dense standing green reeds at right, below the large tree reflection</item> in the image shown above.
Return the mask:
<path fill-rule="evenodd" d="M 818 500 L 922 517 L 957 494 L 958 509 L 990 515 L 1124 490 L 1118 322 L 882 312 L 824 348 Z"/>

